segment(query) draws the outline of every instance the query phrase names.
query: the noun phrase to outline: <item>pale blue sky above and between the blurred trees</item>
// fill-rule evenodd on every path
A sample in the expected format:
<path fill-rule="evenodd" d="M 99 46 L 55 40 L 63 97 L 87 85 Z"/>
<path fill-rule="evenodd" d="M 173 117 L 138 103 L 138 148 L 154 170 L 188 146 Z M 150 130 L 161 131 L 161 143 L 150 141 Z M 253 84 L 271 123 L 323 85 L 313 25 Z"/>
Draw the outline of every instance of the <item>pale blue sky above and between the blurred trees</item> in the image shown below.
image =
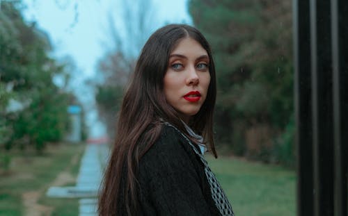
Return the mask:
<path fill-rule="evenodd" d="M 152 0 L 151 4 L 149 0 L 127 2 L 136 6 L 140 1 L 143 1 L 145 6 L 151 7 L 152 14 L 148 22 L 151 31 L 168 23 L 191 24 L 192 22 L 187 0 Z M 84 104 L 90 137 L 104 135 L 105 128 L 97 117 L 94 92 L 85 81 L 97 76 L 98 60 L 113 46 L 109 37 L 109 15 L 112 15 L 120 35 L 124 36 L 123 28 L 125 24 L 129 24 L 122 15 L 122 4 L 125 2 L 123 0 L 23 0 L 26 5 L 23 11 L 24 19 L 36 22 L 38 28 L 49 35 L 54 50 L 52 56 L 57 59 L 70 56 L 76 65 L 72 76 L 72 90 Z M 129 43 L 125 37 L 122 40 L 125 44 Z M 56 83 L 59 85 L 59 80 Z"/>

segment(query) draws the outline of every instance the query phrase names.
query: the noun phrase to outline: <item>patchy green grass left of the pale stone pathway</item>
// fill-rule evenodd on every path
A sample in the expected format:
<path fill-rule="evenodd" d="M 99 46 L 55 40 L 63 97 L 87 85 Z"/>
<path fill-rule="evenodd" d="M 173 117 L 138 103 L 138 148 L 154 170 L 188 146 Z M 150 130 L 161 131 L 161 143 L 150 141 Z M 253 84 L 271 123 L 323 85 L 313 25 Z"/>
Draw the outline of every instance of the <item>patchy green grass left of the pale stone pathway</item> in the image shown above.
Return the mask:
<path fill-rule="evenodd" d="M 78 199 L 49 198 L 45 193 L 52 185 L 74 185 L 84 147 L 51 144 L 42 156 L 11 152 L 10 170 L 0 173 L 0 215 L 78 215 Z"/>

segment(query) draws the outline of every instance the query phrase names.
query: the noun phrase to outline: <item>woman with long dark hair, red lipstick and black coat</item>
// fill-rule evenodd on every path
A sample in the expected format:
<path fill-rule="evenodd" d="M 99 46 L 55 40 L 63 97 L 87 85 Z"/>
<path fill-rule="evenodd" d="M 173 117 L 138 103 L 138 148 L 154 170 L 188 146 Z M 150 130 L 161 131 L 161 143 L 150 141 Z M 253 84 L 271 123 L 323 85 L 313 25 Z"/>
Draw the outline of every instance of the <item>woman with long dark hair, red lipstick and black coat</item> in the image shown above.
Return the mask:
<path fill-rule="evenodd" d="M 215 79 L 196 28 L 171 24 L 150 36 L 122 101 L 100 215 L 233 215 L 203 157 L 217 157 Z"/>

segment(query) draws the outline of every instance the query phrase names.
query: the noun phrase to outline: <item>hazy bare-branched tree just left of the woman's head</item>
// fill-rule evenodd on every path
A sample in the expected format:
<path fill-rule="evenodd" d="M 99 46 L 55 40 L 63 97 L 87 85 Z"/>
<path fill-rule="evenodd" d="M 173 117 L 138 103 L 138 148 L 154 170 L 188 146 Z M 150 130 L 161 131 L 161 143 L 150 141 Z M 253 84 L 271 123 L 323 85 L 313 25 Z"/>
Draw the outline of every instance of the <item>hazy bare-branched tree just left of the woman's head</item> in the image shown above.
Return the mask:
<path fill-rule="evenodd" d="M 114 13 L 109 13 L 111 40 L 108 44 L 112 44 L 112 48 L 106 51 L 98 64 L 98 75 L 102 76 L 102 81 L 95 85 L 95 100 L 110 137 L 115 131 L 123 90 L 134 70 L 139 51 L 152 31 L 150 24 L 154 17 L 151 4 L 152 1 L 122 1 L 122 17 L 119 18 L 124 22 L 121 26 L 114 22 Z"/>

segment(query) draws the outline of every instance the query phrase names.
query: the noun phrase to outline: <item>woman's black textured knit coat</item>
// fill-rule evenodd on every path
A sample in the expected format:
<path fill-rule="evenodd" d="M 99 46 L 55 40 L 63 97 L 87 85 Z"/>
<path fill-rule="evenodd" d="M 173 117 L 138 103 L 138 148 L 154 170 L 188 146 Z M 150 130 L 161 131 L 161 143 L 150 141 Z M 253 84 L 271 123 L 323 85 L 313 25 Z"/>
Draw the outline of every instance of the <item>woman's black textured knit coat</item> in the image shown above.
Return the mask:
<path fill-rule="evenodd" d="M 141 158 L 136 178 L 139 215 L 220 215 L 203 163 L 171 126 L 162 127 L 157 141 Z M 118 215 L 127 215 L 123 199 L 118 201 Z"/>

